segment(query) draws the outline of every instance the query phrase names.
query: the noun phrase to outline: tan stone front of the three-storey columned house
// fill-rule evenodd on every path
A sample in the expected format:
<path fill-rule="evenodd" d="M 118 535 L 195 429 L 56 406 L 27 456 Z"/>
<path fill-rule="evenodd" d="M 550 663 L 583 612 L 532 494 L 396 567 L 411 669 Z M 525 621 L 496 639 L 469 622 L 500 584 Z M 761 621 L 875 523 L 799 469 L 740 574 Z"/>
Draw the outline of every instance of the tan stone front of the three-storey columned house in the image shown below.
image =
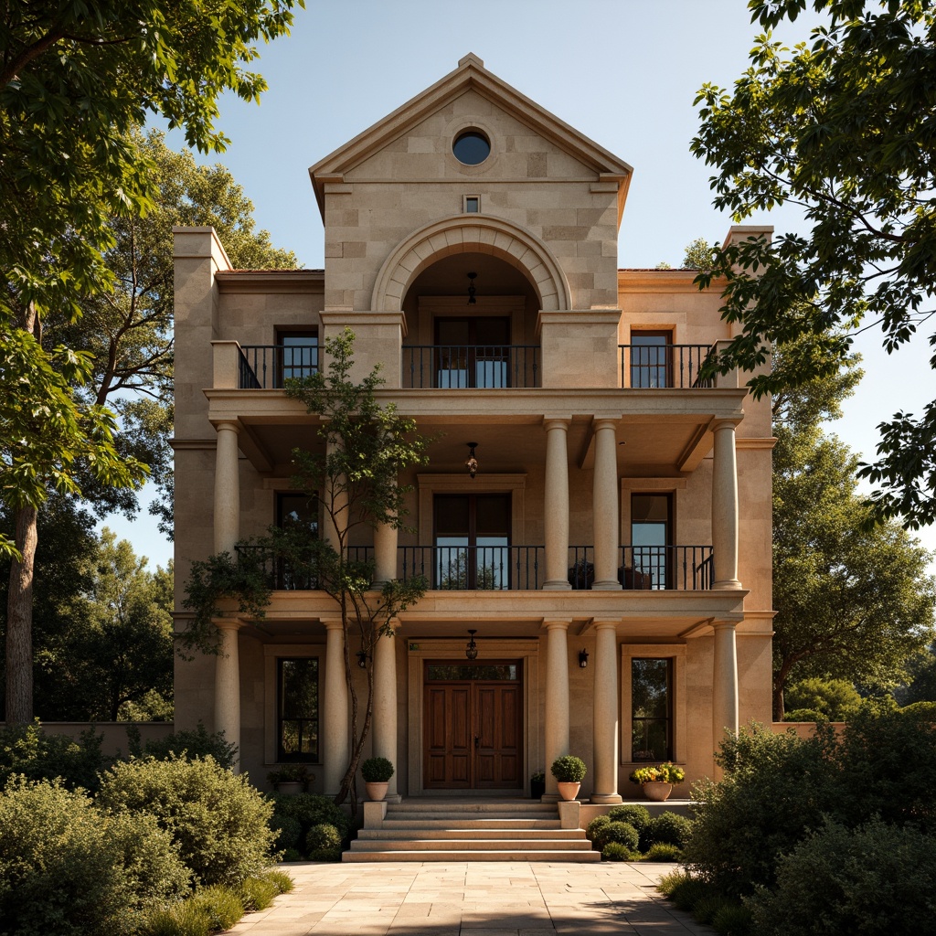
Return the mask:
<path fill-rule="evenodd" d="M 483 158 L 456 156 L 465 133 Z M 631 168 L 474 55 L 310 175 L 324 271 L 234 271 L 212 229 L 175 231 L 177 627 L 189 564 L 284 509 L 290 452 L 315 436 L 282 379 L 350 326 L 358 375 L 379 363 L 381 399 L 439 433 L 401 478 L 416 532 L 357 544 L 434 577 L 375 654 L 391 796 L 529 795 L 562 753 L 588 763 L 593 802 L 638 795 L 627 776 L 651 758 L 711 775 L 725 728 L 770 721 L 772 618 L 768 401 L 744 375 L 697 380 L 732 337 L 717 291 L 692 271 L 620 270 Z M 751 235 L 769 232 L 729 233 Z M 445 510 L 464 530 L 443 529 Z M 442 587 L 452 555 L 476 581 Z M 485 578 L 484 556 L 504 571 Z M 177 725 L 223 727 L 256 782 L 304 759 L 334 792 L 336 622 L 323 592 L 285 589 L 263 622 L 223 622 L 226 654 L 177 665 Z M 469 628 L 483 671 L 464 669 Z M 317 706 L 286 711 L 284 665 L 309 660 Z M 308 756 L 284 735 L 299 724 Z"/>

